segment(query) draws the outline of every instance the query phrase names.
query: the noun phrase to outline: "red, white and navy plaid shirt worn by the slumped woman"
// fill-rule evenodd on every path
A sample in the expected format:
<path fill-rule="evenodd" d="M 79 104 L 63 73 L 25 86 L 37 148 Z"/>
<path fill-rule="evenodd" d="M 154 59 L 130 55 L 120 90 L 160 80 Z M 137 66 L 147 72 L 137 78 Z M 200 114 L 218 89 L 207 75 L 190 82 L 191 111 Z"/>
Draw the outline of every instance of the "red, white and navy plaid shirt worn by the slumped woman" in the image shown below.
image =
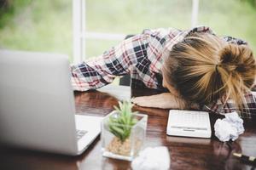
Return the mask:
<path fill-rule="evenodd" d="M 144 30 L 142 34 L 128 38 L 116 47 L 94 59 L 88 59 L 80 65 L 72 65 L 73 89 L 86 91 L 101 88 L 114 77 L 131 74 L 131 86 L 141 88 L 163 89 L 160 73 L 164 59 L 172 46 L 181 42 L 191 32 L 208 32 L 214 34 L 209 27 L 199 26 L 191 30 L 181 31 L 174 28 Z M 240 39 L 224 37 L 226 42 L 247 44 Z M 246 116 L 255 114 L 256 102 L 253 94 L 245 94 L 244 111 Z M 224 104 L 222 99 L 212 105 L 205 105 L 202 110 L 217 113 L 236 111 L 232 100 Z"/>

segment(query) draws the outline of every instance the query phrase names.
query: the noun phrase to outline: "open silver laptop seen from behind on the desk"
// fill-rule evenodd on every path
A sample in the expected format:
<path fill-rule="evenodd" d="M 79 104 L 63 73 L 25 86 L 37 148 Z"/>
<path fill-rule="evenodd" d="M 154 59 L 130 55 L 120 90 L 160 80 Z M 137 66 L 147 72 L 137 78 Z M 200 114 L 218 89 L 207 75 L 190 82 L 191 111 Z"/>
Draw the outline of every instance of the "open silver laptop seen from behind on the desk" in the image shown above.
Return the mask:
<path fill-rule="evenodd" d="M 75 115 L 67 56 L 0 50 L 0 143 L 76 156 L 101 116 Z"/>

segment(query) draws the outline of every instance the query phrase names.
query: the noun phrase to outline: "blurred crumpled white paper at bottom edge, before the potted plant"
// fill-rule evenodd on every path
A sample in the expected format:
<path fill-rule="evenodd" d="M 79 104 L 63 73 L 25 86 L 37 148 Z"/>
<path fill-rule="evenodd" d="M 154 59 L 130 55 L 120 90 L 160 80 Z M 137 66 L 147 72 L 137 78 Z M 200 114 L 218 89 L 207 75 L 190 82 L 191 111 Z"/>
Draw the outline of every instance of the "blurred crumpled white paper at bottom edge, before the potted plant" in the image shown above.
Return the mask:
<path fill-rule="evenodd" d="M 131 162 L 133 170 L 166 170 L 170 167 L 170 155 L 165 146 L 148 147 L 140 151 Z"/>

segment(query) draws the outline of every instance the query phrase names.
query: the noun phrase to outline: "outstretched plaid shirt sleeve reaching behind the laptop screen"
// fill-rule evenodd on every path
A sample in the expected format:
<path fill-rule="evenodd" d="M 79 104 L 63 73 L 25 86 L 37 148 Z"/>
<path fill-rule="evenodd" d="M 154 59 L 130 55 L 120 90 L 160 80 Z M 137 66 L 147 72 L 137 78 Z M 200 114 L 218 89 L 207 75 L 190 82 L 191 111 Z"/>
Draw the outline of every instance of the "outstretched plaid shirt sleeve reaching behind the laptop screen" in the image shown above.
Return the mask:
<path fill-rule="evenodd" d="M 147 43 L 148 35 L 140 34 L 120 42 L 101 56 L 72 65 L 73 89 L 86 91 L 101 88 L 113 82 L 114 77 L 129 73 L 131 66 L 146 55 Z"/>

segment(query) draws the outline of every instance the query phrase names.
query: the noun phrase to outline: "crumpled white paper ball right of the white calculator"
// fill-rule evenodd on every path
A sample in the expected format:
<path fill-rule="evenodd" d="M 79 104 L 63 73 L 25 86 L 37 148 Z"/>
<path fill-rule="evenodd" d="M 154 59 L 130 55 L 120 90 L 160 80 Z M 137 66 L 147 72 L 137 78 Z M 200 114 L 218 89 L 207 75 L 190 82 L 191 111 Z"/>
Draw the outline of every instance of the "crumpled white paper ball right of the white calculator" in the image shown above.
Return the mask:
<path fill-rule="evenodd" d="M 236 140 L 244 132 L 243 120 L 236 112 L 227 113 L 224 119 L 218 119 L 214 124 L 215 136 L 223 142 Z"/>

